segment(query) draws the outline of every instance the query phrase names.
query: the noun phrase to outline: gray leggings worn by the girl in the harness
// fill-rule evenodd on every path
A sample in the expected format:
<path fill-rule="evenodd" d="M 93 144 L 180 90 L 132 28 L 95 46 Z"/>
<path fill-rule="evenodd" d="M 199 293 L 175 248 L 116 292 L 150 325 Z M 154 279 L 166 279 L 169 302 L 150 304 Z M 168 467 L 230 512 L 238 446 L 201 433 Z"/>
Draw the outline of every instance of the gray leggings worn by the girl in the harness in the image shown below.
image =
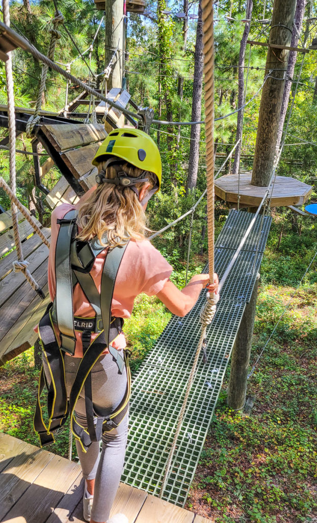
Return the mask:
<path fill-rule="evenodd" d="M 65 356 L 67 394 L 71 391 L 80 358 Z M 118 366 L 110 354 L 101 356 L 91 371 L 93 404 L 111 414 L 120 404 L 126 391 L 126 373 L 118 373 Z M 75 415 L 78 423 L 87 427 L 84 388 L 78 398 Z M 83 452 L 76 441 L 76 448 L 85 480 L 96 478 L 91 519 L 107 521 L 118 490 L 124 465 L 127 440 L 128 415 L 118 428 L 102 435 L 102 450 L 99 443 L 92 442 L 87 452 Z"/>

